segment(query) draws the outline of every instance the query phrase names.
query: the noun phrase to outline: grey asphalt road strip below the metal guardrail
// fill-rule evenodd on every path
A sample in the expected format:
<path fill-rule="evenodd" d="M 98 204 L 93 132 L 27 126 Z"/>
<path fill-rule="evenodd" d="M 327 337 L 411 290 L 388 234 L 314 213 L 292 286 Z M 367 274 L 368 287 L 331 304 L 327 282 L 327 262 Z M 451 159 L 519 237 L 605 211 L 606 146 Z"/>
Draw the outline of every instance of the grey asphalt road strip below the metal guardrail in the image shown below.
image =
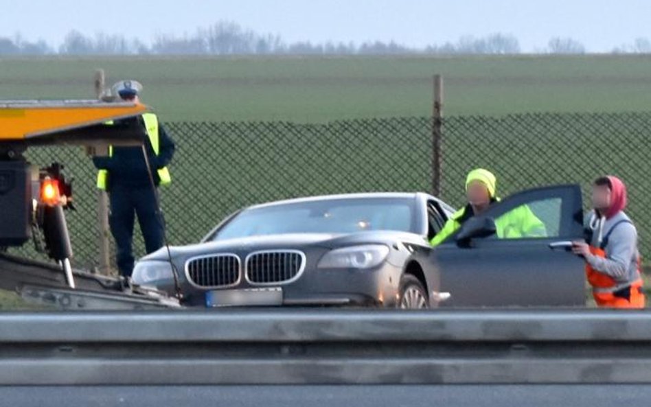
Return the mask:
<path fill-rule="evenodd" d="M 0 387 L 1 406 L 648 406 L 651 386 Z"/>

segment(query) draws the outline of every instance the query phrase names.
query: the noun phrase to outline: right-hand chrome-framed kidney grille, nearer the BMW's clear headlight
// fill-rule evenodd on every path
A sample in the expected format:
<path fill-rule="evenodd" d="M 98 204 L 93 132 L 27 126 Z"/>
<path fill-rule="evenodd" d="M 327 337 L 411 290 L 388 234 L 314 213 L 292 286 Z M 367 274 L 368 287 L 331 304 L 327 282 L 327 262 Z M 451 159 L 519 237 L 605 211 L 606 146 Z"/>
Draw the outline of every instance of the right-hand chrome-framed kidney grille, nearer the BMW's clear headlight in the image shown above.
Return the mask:
<path fill-rule="evenodd" d="M 247 257 L 247 279 L 251 284 L 290 283 L 305 268 L 305 255 L 299 251 L 262 251 Z"/>

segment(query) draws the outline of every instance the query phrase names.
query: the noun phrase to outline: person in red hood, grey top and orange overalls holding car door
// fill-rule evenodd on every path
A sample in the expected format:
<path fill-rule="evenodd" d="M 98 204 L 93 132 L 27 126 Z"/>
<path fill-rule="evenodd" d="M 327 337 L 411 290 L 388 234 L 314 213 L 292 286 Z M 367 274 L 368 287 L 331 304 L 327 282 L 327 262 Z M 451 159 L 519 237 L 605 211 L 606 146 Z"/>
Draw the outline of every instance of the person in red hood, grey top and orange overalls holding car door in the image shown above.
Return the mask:
<path fill-rule="evenodd" d="M 586 222 L 587 242 L 574 242 L 599 307 L 643 308 L 637 230 L 624 213 L 626 186 L 615 176 L 597 178 Z"/>

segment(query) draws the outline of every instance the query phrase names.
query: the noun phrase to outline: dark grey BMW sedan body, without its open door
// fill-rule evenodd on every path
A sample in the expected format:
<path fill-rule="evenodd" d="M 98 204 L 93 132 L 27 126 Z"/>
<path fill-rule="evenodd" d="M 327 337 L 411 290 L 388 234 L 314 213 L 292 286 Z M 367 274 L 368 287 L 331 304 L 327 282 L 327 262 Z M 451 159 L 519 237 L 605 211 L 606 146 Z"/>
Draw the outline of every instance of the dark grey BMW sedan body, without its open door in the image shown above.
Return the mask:
<path fill-rule="evenodd" d="M 133 282 L 170 294 L 180 290 L 187 305 L 208 307 L 425 307 L 423 265 L 409 260 L 416 247 L 429 250 L 429 229 L 440 229 L 452 211 L 420 193 L 255 205 L 226 218 L 199 244 L 144 257 Z"/>

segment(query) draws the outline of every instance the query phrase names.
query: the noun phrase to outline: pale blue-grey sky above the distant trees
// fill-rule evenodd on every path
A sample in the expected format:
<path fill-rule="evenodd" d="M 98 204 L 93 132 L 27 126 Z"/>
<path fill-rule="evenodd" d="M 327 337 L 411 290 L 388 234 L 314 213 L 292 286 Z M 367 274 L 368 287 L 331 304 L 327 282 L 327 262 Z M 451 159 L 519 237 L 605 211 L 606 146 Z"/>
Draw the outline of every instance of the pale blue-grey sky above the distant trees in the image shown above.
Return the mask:
<path fill-rule="evenodd" d="M 0 0 L 0 36 L 21 32 L 58 47 L 69 30 L 122 33 L 150 43 L 157 34 L 194 33 L 220 20 L 284 40 L 395 40 L 411 47 L 460 36 L 513 34 L 523 51 L 552 36 L 610 51 L 651 38 L 649 0 Z"/>

